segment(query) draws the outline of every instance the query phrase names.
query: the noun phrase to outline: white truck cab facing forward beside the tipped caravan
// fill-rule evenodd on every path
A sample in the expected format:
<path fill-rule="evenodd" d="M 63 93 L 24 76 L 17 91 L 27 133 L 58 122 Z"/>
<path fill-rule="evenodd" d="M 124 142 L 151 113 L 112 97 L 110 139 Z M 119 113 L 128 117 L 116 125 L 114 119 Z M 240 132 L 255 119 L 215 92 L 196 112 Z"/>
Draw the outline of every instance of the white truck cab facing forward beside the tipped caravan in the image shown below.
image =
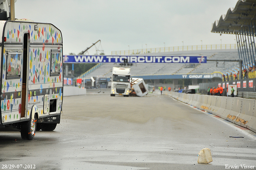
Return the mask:
<path fill-rule="evenodd" d="M 111 76 L 111 92 L 110 96 L 124 95 L 129 97 L 130 94 L 130 68 L 113 67 Z"/>

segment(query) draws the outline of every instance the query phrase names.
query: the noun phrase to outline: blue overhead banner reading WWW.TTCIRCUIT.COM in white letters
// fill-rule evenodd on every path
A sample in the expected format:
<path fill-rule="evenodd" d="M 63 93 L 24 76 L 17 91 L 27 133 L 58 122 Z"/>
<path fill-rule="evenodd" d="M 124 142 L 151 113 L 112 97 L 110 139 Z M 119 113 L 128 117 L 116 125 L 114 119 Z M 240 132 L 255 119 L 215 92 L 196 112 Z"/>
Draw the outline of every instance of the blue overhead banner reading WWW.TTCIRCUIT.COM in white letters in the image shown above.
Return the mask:
<path fill-rule="evenodd" d="M 206 56 L 86 56 L 66 55 L 64 63 L 206 63 Z"/>

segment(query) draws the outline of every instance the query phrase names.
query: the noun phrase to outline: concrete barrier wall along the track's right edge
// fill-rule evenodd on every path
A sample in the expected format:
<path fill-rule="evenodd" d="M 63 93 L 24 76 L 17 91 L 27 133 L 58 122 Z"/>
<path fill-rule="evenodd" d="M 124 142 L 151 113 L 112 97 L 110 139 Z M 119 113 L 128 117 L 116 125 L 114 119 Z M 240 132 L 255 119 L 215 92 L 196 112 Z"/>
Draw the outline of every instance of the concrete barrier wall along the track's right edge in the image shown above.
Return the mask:
<path fill-rule="evenodd" d="M 256 100 L 166 91 L 164 94 L 256 132 Z"/>

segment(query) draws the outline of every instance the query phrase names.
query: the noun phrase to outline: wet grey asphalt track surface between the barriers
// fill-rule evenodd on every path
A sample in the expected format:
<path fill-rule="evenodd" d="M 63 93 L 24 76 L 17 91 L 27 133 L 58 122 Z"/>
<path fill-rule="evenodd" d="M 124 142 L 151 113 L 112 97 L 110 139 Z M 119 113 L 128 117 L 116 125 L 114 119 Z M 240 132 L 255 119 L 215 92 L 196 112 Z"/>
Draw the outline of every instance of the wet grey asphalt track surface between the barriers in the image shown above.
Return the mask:
<path fill-rule="evenodd" d="M 8 164 L 36 170 L 224 170 L 242 169 L 240 164 L 256 169 L 254 132 L 166 95 L 110 97 L 88 90 L 65 97 L 63 112 L 54 131 L 37 131 L 31 141 L 0 128 L 0 169 Z M 203 148 L 211 150 L 213 162 L 197 163 Z"/>

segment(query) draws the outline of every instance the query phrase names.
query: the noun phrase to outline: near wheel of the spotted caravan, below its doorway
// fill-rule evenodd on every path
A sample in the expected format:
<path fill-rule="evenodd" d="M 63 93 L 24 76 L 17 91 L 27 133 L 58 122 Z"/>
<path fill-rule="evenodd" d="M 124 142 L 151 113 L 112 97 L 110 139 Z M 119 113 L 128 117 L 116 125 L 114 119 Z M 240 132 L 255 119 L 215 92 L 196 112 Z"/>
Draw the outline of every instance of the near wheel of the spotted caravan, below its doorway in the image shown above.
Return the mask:
<path fill-rule="evenodd" d="M 36 114 L 29 121 L 22 122 L 20 126 L 20 134 L 23 140 L 32 140 L 36 133 Z"/>

